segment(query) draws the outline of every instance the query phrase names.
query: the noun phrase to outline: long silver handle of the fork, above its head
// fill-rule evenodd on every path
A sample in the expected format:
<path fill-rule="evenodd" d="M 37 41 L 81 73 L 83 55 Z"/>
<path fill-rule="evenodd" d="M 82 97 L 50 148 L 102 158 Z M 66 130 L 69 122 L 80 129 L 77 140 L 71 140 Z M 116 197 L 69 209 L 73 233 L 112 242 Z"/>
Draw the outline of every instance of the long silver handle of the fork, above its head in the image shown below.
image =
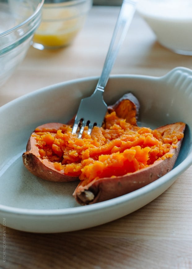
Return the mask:
<path fill-rule="evenodd" d="M 103 66 L 103 71 L 98 80 L 96 90 L 104 91 L 104 88 L 109 79 L 109 75 L 115 63 L 120 46 L 124 41 L 127 30 L 133 19 L 133 15 L 136 9 L 136 3 L 137 1 L 135 0 L 124 0 L 122 3 L 120 13 L 116 22 L 116 26 L 113 32 L 113 36 L 111 39 L 111 43 L 105 59 L 105 63 Z"/>

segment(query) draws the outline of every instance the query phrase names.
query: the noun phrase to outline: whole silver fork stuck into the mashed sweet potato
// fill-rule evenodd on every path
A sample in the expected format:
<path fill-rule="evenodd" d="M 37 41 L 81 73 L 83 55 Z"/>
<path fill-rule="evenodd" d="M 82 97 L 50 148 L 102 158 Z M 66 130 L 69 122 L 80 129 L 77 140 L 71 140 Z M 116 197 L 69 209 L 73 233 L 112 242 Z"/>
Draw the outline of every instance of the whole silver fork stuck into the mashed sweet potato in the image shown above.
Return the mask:
<path fill-rule="evenodd" d="M 75 122 L 72 128 L 72 134 L 76 133 L 80 127 L 78 137 L 81 138 L 85 126 L 88 126 L 88 134 L 91 133 L 95 125 L 101 127 L 103 119 L 107 112 L 107 104 L 103 100 L 103 92 L 111 69 L 115 63 L 116 56 L 124 41 L 127 30 L 133 19 L 136 9 L 136 0 L 124 0 L 113 32 L 109 50 L 103 66 L 103 71 L 98 80 L 94 93 L 84 99 L 81 99 Z"/>

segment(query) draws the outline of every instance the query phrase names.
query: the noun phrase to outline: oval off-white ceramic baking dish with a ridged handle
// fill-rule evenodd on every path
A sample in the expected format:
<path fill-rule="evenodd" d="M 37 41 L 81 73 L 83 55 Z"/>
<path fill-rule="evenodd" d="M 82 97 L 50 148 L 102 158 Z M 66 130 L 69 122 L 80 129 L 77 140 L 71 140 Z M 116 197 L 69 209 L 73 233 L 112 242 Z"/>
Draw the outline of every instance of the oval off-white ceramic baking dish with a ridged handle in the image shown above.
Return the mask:
<path fill-rule="evenodd" d="M 107 223 L 151 202 L 192 164 L 192 70 L 179 67 L 163 77 L 111 76 L 104 93 L 107 104 L 113 104 L 132 92 L 140 101 L 141 125 L 187 124 L 179 157 L 169 173 L 129 194 L 80 206 L 72 197 L 78 182 L 47 182 L 28 172 L 22 153 L 31 132 L 43 123 L 67 122 L 80 99 L 93 92 L 97 80 L 91 77 L 49 86 L 0 108 L 0 221 L 5 219 L 7 227 L 66 232 Z"/>

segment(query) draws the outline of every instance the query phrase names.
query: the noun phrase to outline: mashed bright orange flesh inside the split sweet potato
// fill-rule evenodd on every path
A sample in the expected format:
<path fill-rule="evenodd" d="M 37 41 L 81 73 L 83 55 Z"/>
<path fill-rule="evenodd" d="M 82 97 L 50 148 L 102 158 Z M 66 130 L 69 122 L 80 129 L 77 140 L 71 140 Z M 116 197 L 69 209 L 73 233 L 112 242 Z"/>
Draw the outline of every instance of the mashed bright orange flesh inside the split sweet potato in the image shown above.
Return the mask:
<path fill-rule="evenodd" d="M 115 111 L 106 115 L 103 127 L 94 126 L 91 135 L 87 129 L 82 138 L 72 135 L 71 126 L 65 124 L 59 130 L 37 128 L 33 134 L 42 159 L 53 162 L 61 173 L 78 176 L 85 184 L 135 172 L 156 160 L 170 158 L 170 147 L 183 138 L 181 132 L 167 129 L 160 133 L 132 125 Z"/>

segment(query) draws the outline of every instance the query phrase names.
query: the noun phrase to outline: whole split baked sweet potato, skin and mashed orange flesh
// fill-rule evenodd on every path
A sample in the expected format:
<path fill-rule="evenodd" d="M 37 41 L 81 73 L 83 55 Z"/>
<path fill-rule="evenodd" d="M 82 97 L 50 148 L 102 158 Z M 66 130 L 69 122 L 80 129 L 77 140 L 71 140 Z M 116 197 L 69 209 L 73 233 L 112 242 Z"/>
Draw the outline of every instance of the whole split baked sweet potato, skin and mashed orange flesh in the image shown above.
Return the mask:
<path fill-rule="evenodd" d="M 79 139 L 68 124 L 47 123 L 31 134 L 23 163 L 34 175 L 68 182 L 79 180 L 73 196 L 81 205 L 115 198 L 169 172 L 177 159 L 185 123 L 156 130 L 137 126 L 139 102 L 126 94 L 108 112 L 102 127 Z"/>

